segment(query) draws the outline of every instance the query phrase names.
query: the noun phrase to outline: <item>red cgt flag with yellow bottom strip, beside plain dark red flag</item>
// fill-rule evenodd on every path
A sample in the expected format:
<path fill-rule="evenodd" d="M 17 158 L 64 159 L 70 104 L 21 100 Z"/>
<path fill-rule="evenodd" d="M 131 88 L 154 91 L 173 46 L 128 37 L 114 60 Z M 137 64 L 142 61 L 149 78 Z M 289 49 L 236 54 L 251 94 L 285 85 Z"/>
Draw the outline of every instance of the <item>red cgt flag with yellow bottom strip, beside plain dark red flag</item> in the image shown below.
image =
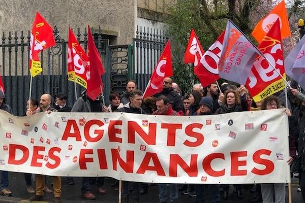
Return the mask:
<path fill-rule="evenodd" d="M 88 56 L 76 40 L 69 27 L 68 36 L 68 80 L 87 88 Z"/>

